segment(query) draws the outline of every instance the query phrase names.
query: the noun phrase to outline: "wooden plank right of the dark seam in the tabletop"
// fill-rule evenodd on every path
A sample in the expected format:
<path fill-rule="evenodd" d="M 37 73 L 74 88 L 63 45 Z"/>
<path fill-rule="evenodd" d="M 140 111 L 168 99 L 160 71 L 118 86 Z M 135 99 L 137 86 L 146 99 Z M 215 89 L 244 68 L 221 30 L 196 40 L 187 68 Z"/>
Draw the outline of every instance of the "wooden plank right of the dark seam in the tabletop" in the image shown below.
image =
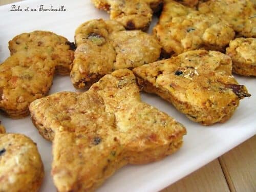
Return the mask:
<path fill-rule="evenodd" d="M 230 190 L 256 191 L 256 136 L 219 157 Z"/>

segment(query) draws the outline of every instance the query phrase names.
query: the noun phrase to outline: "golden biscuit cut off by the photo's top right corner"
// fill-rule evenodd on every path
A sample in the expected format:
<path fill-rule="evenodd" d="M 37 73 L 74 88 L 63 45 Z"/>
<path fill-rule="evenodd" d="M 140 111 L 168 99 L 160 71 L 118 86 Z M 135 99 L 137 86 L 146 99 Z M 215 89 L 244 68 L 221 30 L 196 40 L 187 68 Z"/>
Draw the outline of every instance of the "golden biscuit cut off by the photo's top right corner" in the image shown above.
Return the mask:
<path fill-rule="evenodd" d="M 237 36 L 256 37 L 256 3 L 254 0 L 209 0 L 200 2 L 201 13 L 225 19 Z"/>

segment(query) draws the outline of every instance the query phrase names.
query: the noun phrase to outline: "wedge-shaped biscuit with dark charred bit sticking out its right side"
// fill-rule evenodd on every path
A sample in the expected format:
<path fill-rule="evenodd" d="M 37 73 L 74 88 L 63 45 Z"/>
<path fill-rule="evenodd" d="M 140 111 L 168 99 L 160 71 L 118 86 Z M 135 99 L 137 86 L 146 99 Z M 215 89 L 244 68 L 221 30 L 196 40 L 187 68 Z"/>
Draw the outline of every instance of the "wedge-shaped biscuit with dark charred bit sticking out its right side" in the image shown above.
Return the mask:
<path fill-rule="evenodd" d="M 231 75 L 232 61 L 216 51 L 195 50 L 135 68 L 137 83 L 172 103 L 190 120 L 211 125 L 228 120 L 249 97 Z"/>

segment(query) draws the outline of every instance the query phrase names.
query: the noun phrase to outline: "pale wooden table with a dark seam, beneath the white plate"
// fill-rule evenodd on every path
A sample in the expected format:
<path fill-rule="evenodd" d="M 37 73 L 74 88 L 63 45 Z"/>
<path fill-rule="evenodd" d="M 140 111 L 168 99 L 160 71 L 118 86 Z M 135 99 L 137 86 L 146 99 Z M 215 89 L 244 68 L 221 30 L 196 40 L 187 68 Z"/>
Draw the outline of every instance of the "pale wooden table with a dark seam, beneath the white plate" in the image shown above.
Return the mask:
<path fill-rule="evenodd" d="M 0 0 L 5 5 L 20 0 Z M 86 1 L 86 0 L 84 0 Z M 256 136 L 161 192 L 256 191 Z M 189 159 L 188 159 L 189 161 Z"/>

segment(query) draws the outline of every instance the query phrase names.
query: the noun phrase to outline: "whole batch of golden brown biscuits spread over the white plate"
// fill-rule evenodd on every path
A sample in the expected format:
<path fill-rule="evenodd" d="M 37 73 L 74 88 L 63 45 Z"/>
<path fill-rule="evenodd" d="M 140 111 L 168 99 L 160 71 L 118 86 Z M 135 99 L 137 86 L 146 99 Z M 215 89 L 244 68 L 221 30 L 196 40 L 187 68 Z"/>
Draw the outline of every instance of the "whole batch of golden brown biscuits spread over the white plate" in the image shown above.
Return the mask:
<path fill-rule="evenodd" d="M 31 115 L 53 142 L 58 191 L 93 191 L 126 164 L 160 160 L 182 146 L 186 128 L 144 103 L 140 91 L 191 121 L 227 121 L 249 97 L 232 72 L 256 76 L 256 8 L 251 0 L 92 0 L 111 20 L 75 31 L 75 43 L 33 31 L 9 41 L 0 65 L 0 110 Z M 160 15 L 153 34 L 146 31 Z M 55 74 L 83 92 L 47 96 Z M 1 122 L 1 121 L 0 121 Z M 7 127 L 8 129 L 8 127 Z M 0 124 L 0 191 L 37 191 L 44 166 L 35 143 Z"/>

